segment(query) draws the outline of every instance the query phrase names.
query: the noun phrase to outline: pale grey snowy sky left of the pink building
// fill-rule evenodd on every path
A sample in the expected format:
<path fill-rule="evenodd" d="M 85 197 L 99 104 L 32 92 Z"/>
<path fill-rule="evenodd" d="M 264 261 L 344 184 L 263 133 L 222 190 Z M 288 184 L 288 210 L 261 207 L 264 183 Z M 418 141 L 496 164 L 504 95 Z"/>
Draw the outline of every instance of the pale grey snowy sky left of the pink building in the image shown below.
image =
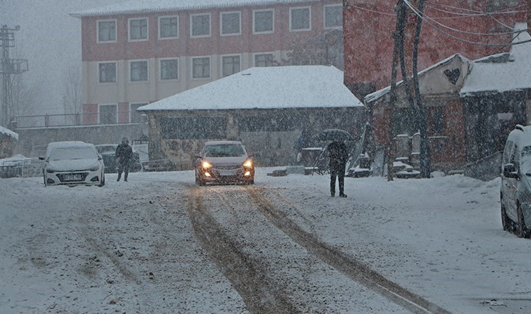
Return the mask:
<path fill-rule="evenodd" d="M 24 80 L 41 89 L 34 114 L 62 114 L 64 73 L 81 68 L 81 22 L 68 13 L 123 1 L 0 0 L 0 24 L 20 25 L 10 57 L 28 59 Z"/>

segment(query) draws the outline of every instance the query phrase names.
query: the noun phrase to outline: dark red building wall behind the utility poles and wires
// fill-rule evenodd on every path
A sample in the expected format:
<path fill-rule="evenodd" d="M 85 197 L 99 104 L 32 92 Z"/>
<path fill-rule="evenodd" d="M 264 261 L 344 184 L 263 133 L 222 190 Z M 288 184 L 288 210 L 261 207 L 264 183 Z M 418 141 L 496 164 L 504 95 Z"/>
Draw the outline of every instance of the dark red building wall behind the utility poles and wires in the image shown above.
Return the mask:
<path fill-rule="evenodd" d="M 414 0 L 410 0 L 414 1 Z M 514 3 L 518 4 L 512 6 Z M 503 24 L 514 26 L 515 22 L 527 20 L 528 0 L 438 0 L 425 2 L 425 16 L 431 17 L 446 27 L 469 33 L 500 33 L 510 31 Z M 396 0 L 345 0 L 343 11 L 344 30 L 344 83 L 358 98 L 391 84 L 393 58 L 392 31 L 395 29 L 394 8 Z M 509 6 L 510 3 L 511 6 Z M 456 8 L 463 8 L 457 10 Z M 502 11 L 500 11 L 502 10 Z M 467 15 L 451 15 L 452 11 Z M 497 11 L 493 17 L 479 12 Z M 470 13 L 470 14 L 469 14 Z M 469 16 L 470 15 L 470 16 Z M 450 18 L 451 17 L 451 18 Z M 506 47 L 486 47 L 451 38 L 437 31 L 428 22 L 423 22 L 419 43 L 419 70 L 460 53 L 468 59 L 478 59 L 490 54 L 509 51 Z M 439 29 L 442 26 L 435 24 Z M 411 31 L 414 31 L 412 28 Z M 479 43 L 507 43 L 511 34 L 502 36 L 478 36 L 444 29 L 452 36 Z M 399 70 L 400 80 L 400 70 Z"/>

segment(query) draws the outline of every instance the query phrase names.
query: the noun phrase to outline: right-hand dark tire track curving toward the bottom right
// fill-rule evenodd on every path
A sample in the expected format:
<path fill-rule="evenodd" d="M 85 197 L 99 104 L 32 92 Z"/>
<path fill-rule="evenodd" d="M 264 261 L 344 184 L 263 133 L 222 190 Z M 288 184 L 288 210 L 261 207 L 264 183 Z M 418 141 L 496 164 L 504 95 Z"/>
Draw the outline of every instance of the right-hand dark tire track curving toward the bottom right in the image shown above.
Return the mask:
<path fill-rule="evenodd" d="M 271 204 L 261 188 L 246 186 L 245 190 L 263 216 L 266 216 L 279 230 L 282 230 L 293 241 L 319 257 L 323 262 L 329 264 L 330 267 L 381 294 L 395 304 L 412 311 L 412 313 L 450 313 L 444 308 L 407 290 L 405 287 L 389 281 L 381 274 L 358 262 L 354 257 L 337 251 L 328 246 L 328 244 L 319 241 L 314 234 L 305 232 L 293 220 L 289 219 L 284 212 L 279 211 Z"/>

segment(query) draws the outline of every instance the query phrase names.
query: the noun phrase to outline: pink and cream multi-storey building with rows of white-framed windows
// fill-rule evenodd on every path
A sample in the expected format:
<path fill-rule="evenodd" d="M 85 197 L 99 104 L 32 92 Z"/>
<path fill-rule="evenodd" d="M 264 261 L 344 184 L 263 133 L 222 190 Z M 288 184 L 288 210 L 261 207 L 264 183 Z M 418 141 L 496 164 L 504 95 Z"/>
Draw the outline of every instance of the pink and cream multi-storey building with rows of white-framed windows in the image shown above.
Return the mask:
<path fill-rule="evenodd" d="M 136 123 L 137 107 L 289 63 L 291 50 L 342 29 L 341 0 L 131 1 L 71 15 L 82 25 L 84 124 Z"/>

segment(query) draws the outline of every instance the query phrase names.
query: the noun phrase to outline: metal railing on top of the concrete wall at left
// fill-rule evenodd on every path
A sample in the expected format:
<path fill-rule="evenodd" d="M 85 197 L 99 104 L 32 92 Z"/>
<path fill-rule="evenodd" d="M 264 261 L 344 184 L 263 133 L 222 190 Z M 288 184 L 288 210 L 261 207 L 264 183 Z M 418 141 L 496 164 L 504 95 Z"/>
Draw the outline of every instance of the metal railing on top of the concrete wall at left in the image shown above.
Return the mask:
<path fill-rule="evenodd" d="M 96 126 L 109 124 L 138 124 L 138 112 L 43 114 L 15 117 L 15 128 L 50 128 L 57 126 Z"/>

